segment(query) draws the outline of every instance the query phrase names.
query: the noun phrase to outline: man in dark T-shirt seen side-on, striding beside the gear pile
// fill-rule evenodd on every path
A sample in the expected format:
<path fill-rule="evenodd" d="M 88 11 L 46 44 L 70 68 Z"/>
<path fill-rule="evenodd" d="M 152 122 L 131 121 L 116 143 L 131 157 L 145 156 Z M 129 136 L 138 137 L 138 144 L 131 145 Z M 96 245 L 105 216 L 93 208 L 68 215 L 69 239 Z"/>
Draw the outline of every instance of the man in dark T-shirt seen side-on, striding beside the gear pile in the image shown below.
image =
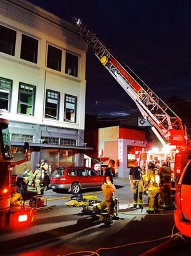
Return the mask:
<path fill-rule="evenodd" d="M 111 159 L 104 173 L 104 183 L 103 183 L 104 200 L 101 203 L 97 204 L 96 209 L 99 211 L 103 211 L 104 209 L 108 208 L 108 214 L 110 215 L 111 219 L 118 220 L 118 216 L 115 216 L 115 213 L 114 213 L 115 201 L 113 200 L 113 193 L 115 193 L 116 191 L 116 188 L 113 184 L 113 173 L 112 173 L 112 170 L 114 167 L 115 167 L 115 161 Z"/>

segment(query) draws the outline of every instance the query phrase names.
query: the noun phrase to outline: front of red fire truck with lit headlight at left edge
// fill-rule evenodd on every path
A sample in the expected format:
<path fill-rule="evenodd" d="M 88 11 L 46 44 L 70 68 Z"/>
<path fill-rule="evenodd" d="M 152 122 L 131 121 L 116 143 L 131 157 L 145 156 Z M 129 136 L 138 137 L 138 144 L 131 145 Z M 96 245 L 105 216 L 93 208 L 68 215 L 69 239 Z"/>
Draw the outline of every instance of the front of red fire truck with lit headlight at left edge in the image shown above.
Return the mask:
<path fill-rule="evenodd" d="M 11 197 L 17 193 L 17 175 L 13 174 L 15 165 L 29 160 L 29 144 L 25 142 L 25 158 L 13 162 L 8 120 L 0 118 L 0 229 L 23 227 L 34 219 L 34 209 L 21 204 L 11 204 Z"/>

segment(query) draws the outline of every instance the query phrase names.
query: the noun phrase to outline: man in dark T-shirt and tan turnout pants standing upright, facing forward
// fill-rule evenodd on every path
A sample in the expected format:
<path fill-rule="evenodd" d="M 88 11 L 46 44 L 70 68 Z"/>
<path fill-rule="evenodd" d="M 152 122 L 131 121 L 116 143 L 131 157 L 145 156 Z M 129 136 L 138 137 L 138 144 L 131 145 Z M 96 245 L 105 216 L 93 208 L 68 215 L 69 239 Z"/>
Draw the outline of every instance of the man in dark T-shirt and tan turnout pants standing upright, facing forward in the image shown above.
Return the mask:
<path fill-rule="evenodd" d="M 138 166 L 138 160 L 133 161 L 133 167 L 129 172 L 129 181 L 132 187 L 132 203 L 133 207 L 139 206 L 143 209 L 143 183 L 142 183 L 142 170 Z"/>

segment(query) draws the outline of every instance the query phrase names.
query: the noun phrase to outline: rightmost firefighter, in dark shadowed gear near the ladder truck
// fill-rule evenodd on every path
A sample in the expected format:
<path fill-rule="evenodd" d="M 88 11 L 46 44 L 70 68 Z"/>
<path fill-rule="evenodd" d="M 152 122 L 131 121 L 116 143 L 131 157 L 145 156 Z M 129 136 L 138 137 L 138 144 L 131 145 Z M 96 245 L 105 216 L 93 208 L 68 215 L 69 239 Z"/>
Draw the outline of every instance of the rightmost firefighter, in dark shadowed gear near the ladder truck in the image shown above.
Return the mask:
<path fill-rule="evenodd" d="M 159 168 L 160 174 L 160 196 L 162 199 L 162 207 L 166 209 L 173 209 L 173 203 L 171 199 L 171 175 L 172 171 L 167 167 L 166 162 L 162 162 L 162 166 Z"/>

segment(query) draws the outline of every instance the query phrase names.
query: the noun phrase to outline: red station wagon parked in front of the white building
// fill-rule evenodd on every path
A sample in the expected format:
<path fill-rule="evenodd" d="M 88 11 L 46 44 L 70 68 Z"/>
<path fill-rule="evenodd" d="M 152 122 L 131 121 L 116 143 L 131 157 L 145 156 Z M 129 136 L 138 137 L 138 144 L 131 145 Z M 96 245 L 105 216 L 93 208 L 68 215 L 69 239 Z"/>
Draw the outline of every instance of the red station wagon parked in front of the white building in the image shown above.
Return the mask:
<path fill-rule="evenodd" d="M 80 193 L 83 188 L 101 188 L 103 181 L 104 176 L 97 174 L 94 169 L 66 167 L 53 172 L 49 186 L 55 192 L 63 189 L 75 195 Z"/>

